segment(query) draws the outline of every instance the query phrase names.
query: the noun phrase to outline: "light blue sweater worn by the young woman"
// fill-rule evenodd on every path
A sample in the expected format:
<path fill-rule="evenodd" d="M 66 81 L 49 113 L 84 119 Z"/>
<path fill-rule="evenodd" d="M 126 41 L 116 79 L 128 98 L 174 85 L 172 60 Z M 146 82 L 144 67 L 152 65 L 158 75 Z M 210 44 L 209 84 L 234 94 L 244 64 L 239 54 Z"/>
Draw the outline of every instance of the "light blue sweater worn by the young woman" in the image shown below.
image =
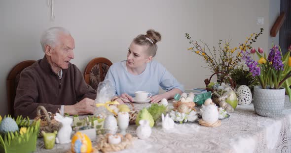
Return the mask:
<path fill-rule="evenodd" d="M 123 93 L 135 97 L 135 91 L 147 91 L 152 95 L 159 93 L 159 86 L 169 91 L 177 88 L 183 91 L 183 86 L 173 77 L 166 68 L 152 60 L 147 63 L 146 70 L 140 75 L 132 75 L 127 71 L 125 60 L 110 66 L 105 77 L 115 87 L 115 93 L 120 96 Z"/>

